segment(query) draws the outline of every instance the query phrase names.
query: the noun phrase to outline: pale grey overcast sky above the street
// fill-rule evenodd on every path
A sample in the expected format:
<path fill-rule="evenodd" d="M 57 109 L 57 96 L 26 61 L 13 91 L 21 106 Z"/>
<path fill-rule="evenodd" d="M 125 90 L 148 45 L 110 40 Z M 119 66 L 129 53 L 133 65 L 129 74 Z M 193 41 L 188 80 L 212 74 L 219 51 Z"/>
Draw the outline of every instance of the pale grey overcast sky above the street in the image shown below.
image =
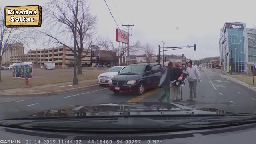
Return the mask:
<path fill-rule="evenodd" d="M 1 0 L 4 6 L 39 4 L 44 0 Z M 117 28 L 104 0 L 88 0 L 90 10 L 98 18 L 98 35 L 115 41 Z M 134 24 L 130 29 L 130 43 L 140 40 L 150 43 L 155 54 L 158 44 L 162 46 L 193 46 L 193 48 L 172 50 L 165 54 L 184 54 L 198 60 L 218 56 L 220 28 L 226 21 L 245 22 L 247 28 L 256 24 L 256 1 L 254 0 L 106 0 L 118 26 Z M 43 15 L 43 14 L 42 14 Z M 178 29 L 177 29 L 178 28 Z M 116 42 L 118 46 L 118 42 Z M 40 46 L 39 46 L 40 47 Z M 161 53 L 162 54 L 162 53 Z"/>

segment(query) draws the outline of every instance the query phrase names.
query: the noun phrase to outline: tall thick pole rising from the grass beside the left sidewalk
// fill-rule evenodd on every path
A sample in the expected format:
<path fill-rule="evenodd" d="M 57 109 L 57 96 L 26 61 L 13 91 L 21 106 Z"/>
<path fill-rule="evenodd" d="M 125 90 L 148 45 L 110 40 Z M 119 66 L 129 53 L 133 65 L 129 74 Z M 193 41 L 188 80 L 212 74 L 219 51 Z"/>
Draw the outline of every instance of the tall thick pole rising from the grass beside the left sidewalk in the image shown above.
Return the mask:
<path fill-rule="evenodd" d="M 77 24 L 77 13 L 78 13 L 78 0 L 76 0 L 76 18 L 75 18 L 75 29 L 74 29 L 74 78 L 73 85 L 78 85 L 78 79 L 76 76 L 76 24 Z"/>

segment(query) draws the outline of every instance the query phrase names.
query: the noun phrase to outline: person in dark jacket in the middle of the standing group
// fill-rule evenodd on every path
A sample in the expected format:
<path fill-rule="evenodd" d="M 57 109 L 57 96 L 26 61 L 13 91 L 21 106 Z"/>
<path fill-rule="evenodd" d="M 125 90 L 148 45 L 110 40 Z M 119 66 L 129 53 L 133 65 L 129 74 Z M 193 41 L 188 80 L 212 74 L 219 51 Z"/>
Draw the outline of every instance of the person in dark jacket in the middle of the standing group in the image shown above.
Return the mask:
<path fill-rule="evenodd" d="M 180 75 L 182 74 L 182 70 L 180 69 L 180 64 L 176 62 L 174 64 L 174 68 L 171 70 L 171 92 L 173 97 L 173 102 L 180 102 L 180 86 L 177 86 L 176 84 L 172 82 L 176 82 Z"/>

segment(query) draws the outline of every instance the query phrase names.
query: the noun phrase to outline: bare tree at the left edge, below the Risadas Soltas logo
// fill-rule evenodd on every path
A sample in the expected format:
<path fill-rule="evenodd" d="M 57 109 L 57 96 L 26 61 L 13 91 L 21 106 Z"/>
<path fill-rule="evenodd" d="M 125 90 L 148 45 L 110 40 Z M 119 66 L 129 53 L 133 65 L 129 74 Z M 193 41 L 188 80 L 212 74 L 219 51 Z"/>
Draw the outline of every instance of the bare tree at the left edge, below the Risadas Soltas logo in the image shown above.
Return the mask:
<path fill-rule="evenodd" d="M 30 38 L 26 35 L 26 28 L 7 28 L 5 26 L 4 11 L 0 10 L 0 66 L 4 53 L 8 50 L 15 50 L 14 44 L 22 43 L 27 45 L 26 40 Z M 0 82 L 1 71 L 0 71 Z"/>

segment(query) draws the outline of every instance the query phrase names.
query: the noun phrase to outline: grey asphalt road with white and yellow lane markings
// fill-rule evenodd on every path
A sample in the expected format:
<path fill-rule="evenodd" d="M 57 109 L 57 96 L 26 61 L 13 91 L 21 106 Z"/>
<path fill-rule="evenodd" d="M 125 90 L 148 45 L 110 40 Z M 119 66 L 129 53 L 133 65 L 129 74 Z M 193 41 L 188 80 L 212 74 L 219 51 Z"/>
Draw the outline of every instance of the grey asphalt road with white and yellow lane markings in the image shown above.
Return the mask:
<path fill-rule="evenodd" d="M 197 85 L 198 97 L 195 102 L 188 102 L 188 82 L 182 87 L 183 102 L 195 106 L 218 108 L 230 112 L 256 113 L 256 92 L 230 82 L 213 70 L 200 70 L 202 82 Z M 113 102 L 157 102 L 162 95 L 161 88 L 150 90 L 138 96 L 137 94 L 114 94 L 108 87 L 93 87 L 65 94 L 52 96 L 31 97 L 0 104 L 0 119 L 19 118 L 32 113 L 66 108 L 68 106 L 82 106 L 85 104 L 113 103 Z"/>

